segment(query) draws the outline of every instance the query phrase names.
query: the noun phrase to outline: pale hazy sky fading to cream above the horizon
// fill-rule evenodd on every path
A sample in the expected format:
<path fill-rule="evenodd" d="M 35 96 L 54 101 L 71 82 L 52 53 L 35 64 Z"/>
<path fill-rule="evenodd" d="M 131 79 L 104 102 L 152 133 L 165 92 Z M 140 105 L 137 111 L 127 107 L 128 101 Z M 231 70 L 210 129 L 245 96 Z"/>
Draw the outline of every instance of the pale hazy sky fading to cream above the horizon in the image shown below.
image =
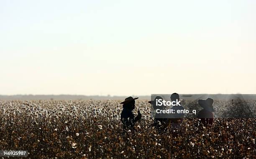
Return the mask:
<path fill-rule="evenodd" d="M 0 94 L 256 94 L 255 0 L 1 0 Z"/>

